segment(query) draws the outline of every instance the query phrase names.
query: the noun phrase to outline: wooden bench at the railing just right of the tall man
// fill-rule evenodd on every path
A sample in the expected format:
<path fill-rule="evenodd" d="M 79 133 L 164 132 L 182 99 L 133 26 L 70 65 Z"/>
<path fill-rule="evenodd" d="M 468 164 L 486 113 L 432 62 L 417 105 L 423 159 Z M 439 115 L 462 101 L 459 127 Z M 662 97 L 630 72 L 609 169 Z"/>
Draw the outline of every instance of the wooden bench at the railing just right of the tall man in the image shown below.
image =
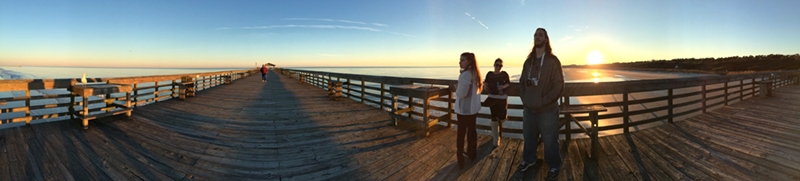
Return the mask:
<path fill-rule="evenodd" d="M 605 107 L 601 105 L 593 105 L 593 106 L 567 106 L 561 109 L 561 114 L 564 115 L 564 120 L 558 123 L 558 127 L 561 128 L 562 126 L 566 126 L 567 130 L 570 130 L 570 122 L 575 122 L 575 124 L 580 127 L 586 135 L 589 135 L 589 138 L 592 140 L 592 158 L 597 158 L 597 149 L 600 147 L 600 143 L 597 142 L 597 115 L 599 112 L 608 111 Z M 592 122 L 591 130 L 586 129 L 581 125 L 581 123 L 572 117 L 572 114 L 582 114 L 582 113 L 589 113 L 589 121 Z M 566 134 L 566 142 L 569 143 L 570 139 L 572 138 L 572 133 Z"/>

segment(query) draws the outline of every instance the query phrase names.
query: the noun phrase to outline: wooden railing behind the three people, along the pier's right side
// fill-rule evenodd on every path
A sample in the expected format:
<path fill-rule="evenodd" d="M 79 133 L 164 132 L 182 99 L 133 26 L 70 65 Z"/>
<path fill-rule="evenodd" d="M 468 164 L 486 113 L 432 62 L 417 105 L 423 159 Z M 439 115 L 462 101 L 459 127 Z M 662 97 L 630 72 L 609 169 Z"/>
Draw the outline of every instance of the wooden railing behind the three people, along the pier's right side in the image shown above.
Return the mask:
<path fill-rule="evenodd" d="M 320 72 L 296 69 L 279 69 L 280 73 L 291 76 L 295 79 L 327 89 L 328 82 L 343 82 L 343 95 L 350 99 L 367 103 L 383 110 L 389 111 L 391 106 L 391 95 L 389 87 L 392 85 L 416 84 L 423 86 L 447 87 L 457 83 L 456 80 L 425 79 L 425 78 L 406 78 L 390 76 L 371 76 L 358 74 L 345 74 L 333 72 Z M 677 79 L 657 79 L 657 80 L 637 80 L 623 82 L 586 82 L 586 83 L 566 83 L 562 98 L 559 103 L 562 106 L 591 106 L 602 105 L 608 108 L 608 112 L 599 115 L 601 124 L 600 131 L 619 131 L 627 133 L 637 126 L 655 125 L 655 122 L 672 122 L 676 119 L 683 119 L 692 114 L 699 114 L 709 109 L 719 108 L 732 102 L 741 101 L 746 98 L 758 96 L 758 81 L 773 80 L 773 88 L 797 84 L 800 71 L 781 71 L 752 73 L 741 75 L 711 75 Z M 509 116 L 508 121 L 521 122 L 523 105 L 513 104 L 512 99 L 519 99 L 519 84 L 512 83 L 506 89 L 509 97 Z M 451 94 L 452 95 L 452 94 Z M 450 96 L 452 97 L 452 96 Z M 453 110 L 448 107 L 455 102 L 450 97 L 433 99 L 431 109 L 438 111 L 440 115 L 451 115 L 454 120 Z M 612 101 L 593 101 L 594 98 L 604 98 Z M 575 103 L 571 100 L 579 100 Z M 619 100 L 621 99 L 621 100 Z M 602 100 L 602 99 L 601 99 Z M 409 102 L 405 99 L 398 100 L 401 104 L 413 104 L 421 106 L 421 103 Z M 488 109 L 486 109 L 488 110 Z M 517 112 L 517 114 L 512 114 Z M 417 118 L 421 118 L 420 112 L 409 112 Z M 573 115 L 575 119 L 589 125 L 589 115 Z M 479 118 L 489 119 L 487 113 L 479 113 Z M 562 117 L 561 119 L 567 119 Z M 455 121 L 449 123 L 456 124 Z M 610 124 L 614 123 L 614 124 Z M 508 125 L 508 123 L 506 123 Z M 521 124 L 519 124 L 521 125 Z M 489 130 L 488 125 L 477 125 L 478 129 Z M 573 127 L 574 128 L 574 127 Z M 504 127 L 506 133 L 522 133 L 519 127 Z M 572 129 L 567 126 L 560 131 L 562 134 L 583 133 L 582 129 Z"/>

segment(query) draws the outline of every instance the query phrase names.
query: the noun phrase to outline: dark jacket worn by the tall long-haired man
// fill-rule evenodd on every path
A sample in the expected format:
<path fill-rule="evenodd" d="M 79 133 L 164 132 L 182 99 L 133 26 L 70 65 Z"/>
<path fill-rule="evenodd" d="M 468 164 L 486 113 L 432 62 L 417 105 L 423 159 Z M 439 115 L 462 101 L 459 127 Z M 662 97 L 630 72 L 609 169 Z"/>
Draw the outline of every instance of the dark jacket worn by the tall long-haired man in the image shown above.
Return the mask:
<path fill-rule="evenodd" d="M 555 55 L 545 55 L 542 67 L 538 68 L 540 60 L 535 56 L 525 60 L 519 79 L 519 97 L 526 109 L 549 112 L 558 109 L 558 99 L 564 90 L 564 74 L 561 71 L 561 61 Z M 535 78 L 539 71 L 541 71 L 539 85 L 528 85 L 529 75 Z"/>

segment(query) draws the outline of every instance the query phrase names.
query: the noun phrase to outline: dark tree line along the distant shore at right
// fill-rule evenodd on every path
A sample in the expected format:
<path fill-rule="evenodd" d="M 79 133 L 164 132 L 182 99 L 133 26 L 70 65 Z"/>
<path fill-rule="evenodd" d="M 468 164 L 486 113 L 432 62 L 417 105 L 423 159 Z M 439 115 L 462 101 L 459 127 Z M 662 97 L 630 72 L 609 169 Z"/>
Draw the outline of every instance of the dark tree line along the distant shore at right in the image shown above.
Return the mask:
<path fill-rule="evenodd" d="M 718 74 L 727 74 L 728 72 L 800 70 L 800 54 L 750 55 L 724 58 L 681 58 L 590 65 L 588 67 Z"/>

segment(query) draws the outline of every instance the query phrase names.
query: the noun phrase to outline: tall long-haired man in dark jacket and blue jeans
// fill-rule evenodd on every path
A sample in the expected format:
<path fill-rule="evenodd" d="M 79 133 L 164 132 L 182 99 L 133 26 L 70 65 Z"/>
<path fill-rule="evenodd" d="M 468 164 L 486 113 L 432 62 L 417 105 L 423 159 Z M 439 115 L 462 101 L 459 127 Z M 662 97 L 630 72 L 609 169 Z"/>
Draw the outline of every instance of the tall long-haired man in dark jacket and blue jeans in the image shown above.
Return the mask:
<path fill-rule="evenodd" d="M 533 49 L 525 59 L 520 78 L 519 97 L 525 107 L 522 112 L 522 134 L 525 139 L 519 171 L 536 164 L 539 135 L 544 142 L 544 159 L 550 170 L 547 179 L 558 178 L 561 155 L 558 146 L 558 99 L 564 90 L 561 61 L 553 55 L 550 38 L 544 28 L 536 29 Z"/>

